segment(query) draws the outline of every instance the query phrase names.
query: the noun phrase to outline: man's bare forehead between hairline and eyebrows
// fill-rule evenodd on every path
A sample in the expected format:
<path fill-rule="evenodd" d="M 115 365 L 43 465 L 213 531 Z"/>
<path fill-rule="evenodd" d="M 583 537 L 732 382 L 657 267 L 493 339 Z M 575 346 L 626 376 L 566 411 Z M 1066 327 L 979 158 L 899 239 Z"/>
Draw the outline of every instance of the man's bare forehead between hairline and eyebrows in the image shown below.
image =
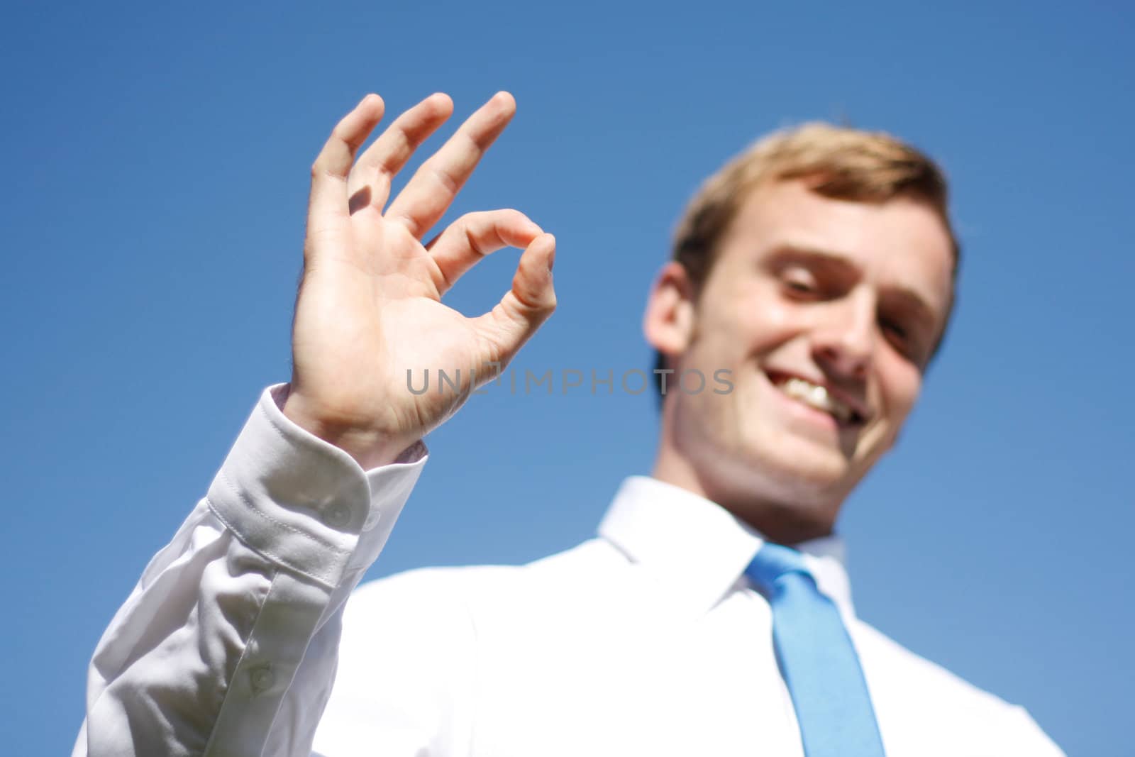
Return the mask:
<path fill-rule="evenodd" d="M 721 260 L 800 249 L 847 259 L 878 287 L 900 287 L 936 312 L 949 306 L 953 249 L 928 204 L 898 197 L 881 203 L 825 197 L 802 180 L 757 187 L 742 203 L 718 250 Z"/>

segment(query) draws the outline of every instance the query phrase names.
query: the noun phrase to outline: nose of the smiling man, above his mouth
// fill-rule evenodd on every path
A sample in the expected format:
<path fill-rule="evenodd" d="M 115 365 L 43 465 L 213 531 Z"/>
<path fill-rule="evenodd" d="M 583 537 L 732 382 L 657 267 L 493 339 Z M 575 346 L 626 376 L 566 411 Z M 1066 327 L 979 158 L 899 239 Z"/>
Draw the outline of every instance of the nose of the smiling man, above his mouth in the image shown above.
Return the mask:
<path fill-rule="evenodd" d="M 875 354 L 875 303 L 863 293 L 827 304 L 813 331 L 813 359 L 833 377 L 863 380 Z"/>

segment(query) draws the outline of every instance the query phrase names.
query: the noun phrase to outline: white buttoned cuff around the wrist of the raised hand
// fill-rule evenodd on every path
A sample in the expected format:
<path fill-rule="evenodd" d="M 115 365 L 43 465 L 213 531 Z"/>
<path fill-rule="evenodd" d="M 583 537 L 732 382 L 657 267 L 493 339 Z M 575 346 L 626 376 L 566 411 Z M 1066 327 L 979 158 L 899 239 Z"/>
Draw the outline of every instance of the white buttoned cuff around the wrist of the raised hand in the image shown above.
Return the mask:
<path fill-rule="evenodd" d="M 428 451 L 417 441 L 394 463 L 363 471 L 284 415 L 287 390 L 279 384 L 261 394 L 207 499 L 249 547 L 334 589 L 378 556 Z"/>

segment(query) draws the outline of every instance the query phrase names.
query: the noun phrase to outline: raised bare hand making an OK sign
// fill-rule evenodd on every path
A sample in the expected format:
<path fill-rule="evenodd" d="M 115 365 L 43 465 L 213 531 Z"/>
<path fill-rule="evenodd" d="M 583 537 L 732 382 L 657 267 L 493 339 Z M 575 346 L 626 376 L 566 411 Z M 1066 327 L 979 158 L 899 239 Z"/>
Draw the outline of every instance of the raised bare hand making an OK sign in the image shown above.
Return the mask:
<path fill-rule="evenodd" d="M 422 243 L 515 109 L 508 93 L 494 95 L 385 212 L 393 177 L 453 112 L 448 96 L 430 95 L 402 113 L 356 162 L 384 111 L 378 95 L 367 95 L 312 166 L 284 413 L 363 468 L 393 461 L 443 423 L 476 388 L 470 369 L 478 386 L 494 378 L 555 310 L 555 238 L 523 213 L 469 213 Z M 524 252 L 491 311 L 466 318 L 442 304 L 462 274 L 505 246 Z M 410 392 L 406 371 L 420 387 L 427 368 L 451 377 L 460 368 L 462 390 Z"/>

